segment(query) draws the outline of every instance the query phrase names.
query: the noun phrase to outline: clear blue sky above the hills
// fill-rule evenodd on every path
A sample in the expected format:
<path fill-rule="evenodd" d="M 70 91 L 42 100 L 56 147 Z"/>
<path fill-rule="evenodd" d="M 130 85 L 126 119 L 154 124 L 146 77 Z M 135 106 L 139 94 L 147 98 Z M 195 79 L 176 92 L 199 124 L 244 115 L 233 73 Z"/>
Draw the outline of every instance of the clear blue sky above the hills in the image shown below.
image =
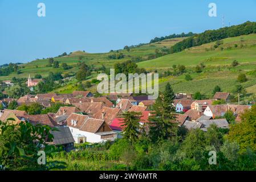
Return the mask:
<path fill-rule="evenodd" d="M 38 17 L 38 3 L 46 17 Z M 209 3 L 217 17 L 208 16 Z M 108 52 L 156 36 L 256 21 L 256 0 L 0 0 L 0 64 L 63 52 Z"/>

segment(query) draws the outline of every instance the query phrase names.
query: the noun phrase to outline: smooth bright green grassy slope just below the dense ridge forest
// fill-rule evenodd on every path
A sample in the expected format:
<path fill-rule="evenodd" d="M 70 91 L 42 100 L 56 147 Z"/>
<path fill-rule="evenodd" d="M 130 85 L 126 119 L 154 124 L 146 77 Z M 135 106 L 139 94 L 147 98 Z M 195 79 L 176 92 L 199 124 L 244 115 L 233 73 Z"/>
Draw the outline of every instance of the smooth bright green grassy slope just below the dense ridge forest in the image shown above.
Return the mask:
<path fill-rule="evenodd" d="M 187 66 L 230 64 L 233 60 L 239 63 L 256 62 L 256 34 L 243 35 L 224 39 L 224 44 L 213 49 L 216 42 L 185 49 L 185 51 L 162 56 L 157 59 L 138 63 L 141 68 L 170 68 L 172 65 Z M 237 44 L 238 47 L 234 47 Z M 222 48 L 224 48 L 222 50 Z"/>

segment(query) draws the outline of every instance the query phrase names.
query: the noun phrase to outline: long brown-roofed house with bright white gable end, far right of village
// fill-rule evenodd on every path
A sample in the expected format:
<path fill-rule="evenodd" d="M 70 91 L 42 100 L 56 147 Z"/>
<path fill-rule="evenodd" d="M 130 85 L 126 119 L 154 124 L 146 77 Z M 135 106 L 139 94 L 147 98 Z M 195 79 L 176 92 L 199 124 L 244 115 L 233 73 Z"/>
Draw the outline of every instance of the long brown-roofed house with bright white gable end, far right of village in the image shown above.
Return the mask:
<path fill-rule="evenodd" d="M 250 106 L 245 106 L 245 105 L 214 105 L 214 106 L 208 106 L 206 107 L 204 111 L 204 115 L 210 116 L 213 118 L 216 117 L 223 117 L 224 114 L 227 111 L 232 111 L 236 117 L 236 121 L 240 122 L 241 121 L 241 114 L 243 111 L 246 109 L 250 109 Z"/>

